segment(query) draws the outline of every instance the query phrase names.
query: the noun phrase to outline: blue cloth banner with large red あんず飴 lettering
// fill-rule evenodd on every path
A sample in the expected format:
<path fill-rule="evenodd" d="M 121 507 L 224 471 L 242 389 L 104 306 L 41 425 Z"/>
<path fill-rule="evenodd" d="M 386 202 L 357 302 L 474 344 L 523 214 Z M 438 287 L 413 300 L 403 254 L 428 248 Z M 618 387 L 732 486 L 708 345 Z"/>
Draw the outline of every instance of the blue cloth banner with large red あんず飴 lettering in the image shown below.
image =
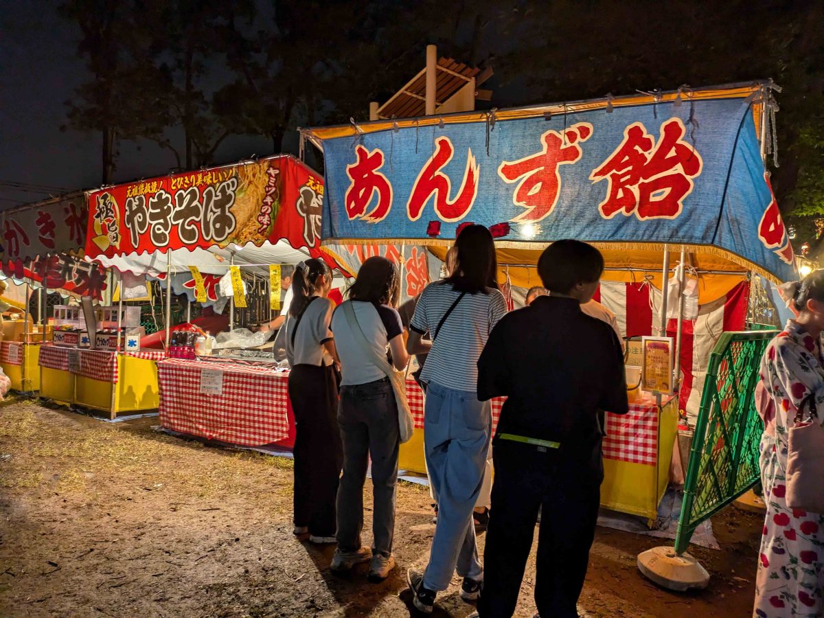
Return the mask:
<path fill-rule="evenodd" d="M 750 99 L 617 106 L 324 139 L 323 237 L 715 246 L 777 279 L 793 250 Z"/>

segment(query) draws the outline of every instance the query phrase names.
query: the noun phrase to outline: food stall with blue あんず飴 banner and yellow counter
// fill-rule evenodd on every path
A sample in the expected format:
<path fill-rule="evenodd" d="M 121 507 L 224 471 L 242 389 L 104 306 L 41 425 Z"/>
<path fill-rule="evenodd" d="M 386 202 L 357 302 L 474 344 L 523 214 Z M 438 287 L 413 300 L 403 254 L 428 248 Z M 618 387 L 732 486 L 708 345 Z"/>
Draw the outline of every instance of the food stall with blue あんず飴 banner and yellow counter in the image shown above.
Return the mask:
<path fill-rule="evenodd" d="M 324 242 L 424 245 L 442 259 L 461 225 L 480 223 L 499 247 L 499 283 L 520 288 L 540 285 L 536 263 L 551 241 L 602 250 L 602 300 L 624 298 L 622 333 L 661 339 L 643 342 L 653 396 L 627 416 L 607 414 L 602 503 L 653 518 L 678 410 L 700 397 L 707 359 L 695 355 L 744 328 L 746 311 L 723 307 L 746 307 L 749 273 L 793 276 L 763 162 L 770 102 L 770 85 L 754 82 L 303 136 L 325 157 Z M 401 466 L 421 460 L 421 443 L 402 447 Z"/>

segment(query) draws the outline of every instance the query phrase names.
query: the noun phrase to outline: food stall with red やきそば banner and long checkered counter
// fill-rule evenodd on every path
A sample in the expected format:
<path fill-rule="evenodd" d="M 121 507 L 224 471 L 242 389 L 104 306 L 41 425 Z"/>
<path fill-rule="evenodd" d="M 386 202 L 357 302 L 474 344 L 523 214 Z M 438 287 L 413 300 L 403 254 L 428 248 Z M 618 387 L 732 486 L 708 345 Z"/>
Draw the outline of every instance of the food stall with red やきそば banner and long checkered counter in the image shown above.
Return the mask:
<path fill-rule="evenodd" d="M 288 371 L 250 330 L 280 311 L 281 265 L 321 257 L 339 269 L 320 248 L 322 194 L 320 176 L 279 156 L 89 195 L 87 258 L 121 274 L 125 300 L 147 278 L 160 281 L 166 328 L 158 343 L 174 356 L 188 350 L 187 358 L 153 359 L 156 379 L 144 385 L 164 428 L 240 446 L 292 445 Z M 172 297 L 181 294 L 187 313 L 191 302 L 228 312 L 231 336 L 199 354 L 190 338 L 173 340 Z"/>

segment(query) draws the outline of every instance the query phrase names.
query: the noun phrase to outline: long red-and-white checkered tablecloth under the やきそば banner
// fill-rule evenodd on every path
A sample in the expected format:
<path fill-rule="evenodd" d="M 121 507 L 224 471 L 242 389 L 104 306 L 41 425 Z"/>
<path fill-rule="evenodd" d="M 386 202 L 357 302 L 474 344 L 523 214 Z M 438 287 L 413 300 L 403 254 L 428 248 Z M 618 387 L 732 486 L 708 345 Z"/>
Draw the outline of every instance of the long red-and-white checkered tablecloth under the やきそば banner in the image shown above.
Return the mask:
<path fill-rule="evenodd" d="M 204 369 L 222 372 L 220 395 L 200 392 Z M 242 447 L 288 437 L 288 372 L 167 358 L 157 363 L 157 376 L 165 428 Z"/>

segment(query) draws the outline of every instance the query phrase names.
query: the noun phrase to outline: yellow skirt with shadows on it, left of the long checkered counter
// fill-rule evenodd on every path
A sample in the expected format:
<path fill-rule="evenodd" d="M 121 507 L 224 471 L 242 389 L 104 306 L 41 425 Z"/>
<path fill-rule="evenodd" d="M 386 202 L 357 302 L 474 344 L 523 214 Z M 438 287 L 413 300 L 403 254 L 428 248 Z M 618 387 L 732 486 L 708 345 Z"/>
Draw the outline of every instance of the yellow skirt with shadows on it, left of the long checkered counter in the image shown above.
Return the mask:
<path fill-rule="evenodd" d="M 156 410 L 160 405 L 157 362 L 118 355 L 119 382 L 75 377 L 74 403 L 108 412 L 112 419 L 121 412 Z"/>

